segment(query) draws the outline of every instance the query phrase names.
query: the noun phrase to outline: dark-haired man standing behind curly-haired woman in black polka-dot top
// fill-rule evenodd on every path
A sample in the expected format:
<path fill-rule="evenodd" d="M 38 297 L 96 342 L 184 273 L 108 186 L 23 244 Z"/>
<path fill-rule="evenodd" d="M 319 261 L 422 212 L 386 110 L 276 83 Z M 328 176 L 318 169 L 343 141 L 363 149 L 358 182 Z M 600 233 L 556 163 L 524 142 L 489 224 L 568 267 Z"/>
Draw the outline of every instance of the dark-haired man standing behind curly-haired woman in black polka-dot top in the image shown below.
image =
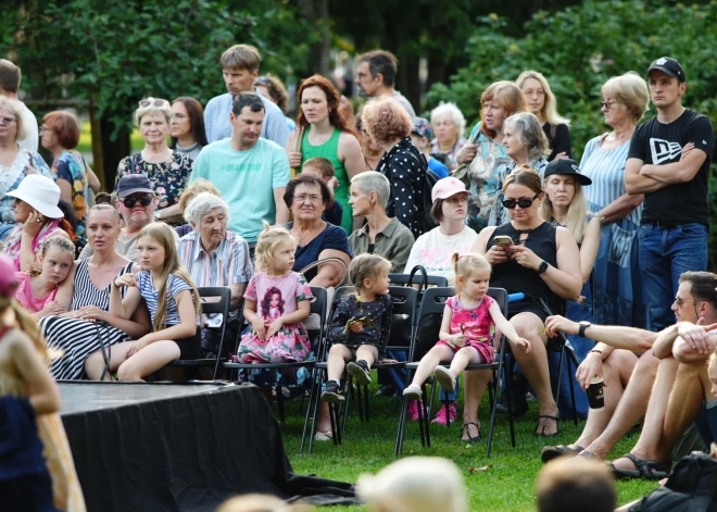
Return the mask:
<path fill-rule="evenodd" d="M 415 117 L 416 112 L 413 110 L 413 105 L 393 87 L 398 68 L 399 60 L 390 51 L 369 51 L 358 58 L 356 84 L 367 98 L 393 98 L 401 103 L 411 117 Z"/>

